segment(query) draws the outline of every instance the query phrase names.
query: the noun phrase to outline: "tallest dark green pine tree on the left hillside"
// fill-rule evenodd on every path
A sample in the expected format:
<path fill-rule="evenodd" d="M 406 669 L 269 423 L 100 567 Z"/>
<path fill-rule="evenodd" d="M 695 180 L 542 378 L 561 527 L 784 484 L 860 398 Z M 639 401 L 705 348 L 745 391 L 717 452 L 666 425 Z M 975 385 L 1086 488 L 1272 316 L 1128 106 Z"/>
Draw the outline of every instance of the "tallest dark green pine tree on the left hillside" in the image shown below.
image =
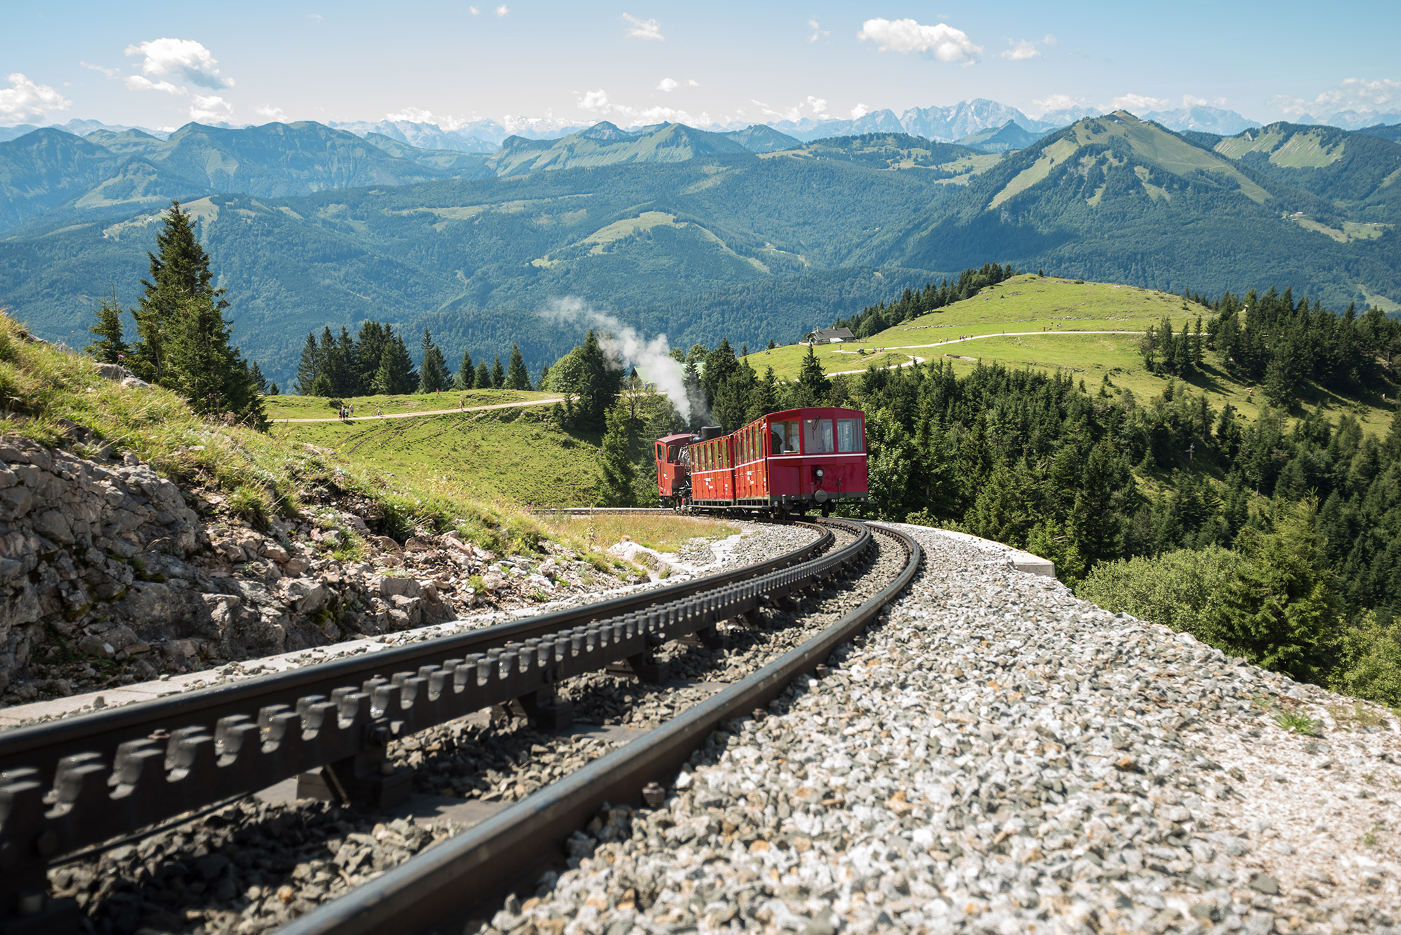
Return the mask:
<path fill-rule="evenodd" d="M 143 379 L 164 385 L 165 340 L 174 330 L 175 315 L 192 308 L 188 298 L 209 300 L 223 314 L 228 302 L 224 290 L 213 287 L 209 255 L 195 235 L 193 216 L 171 202 L 164 224 L 156 235 L 156 253 L 147 253 L 150 279 L 142 280 L 146 293 L 133 311 L 137 342 L 132 347 L 129 367 Z"/>

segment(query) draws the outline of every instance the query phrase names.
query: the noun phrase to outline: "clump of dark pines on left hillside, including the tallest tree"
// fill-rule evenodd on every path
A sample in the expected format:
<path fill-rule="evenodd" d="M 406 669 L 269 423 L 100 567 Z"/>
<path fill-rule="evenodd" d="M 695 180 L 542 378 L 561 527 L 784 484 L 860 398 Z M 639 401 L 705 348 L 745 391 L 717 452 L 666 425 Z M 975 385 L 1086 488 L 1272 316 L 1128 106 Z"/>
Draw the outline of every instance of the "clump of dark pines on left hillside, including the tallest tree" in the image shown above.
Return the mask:
<path fill-rule="evenodd" d="M 244 360 L 231 342 L 224 318 L 228 300 L 214 287 L 209 255 L 199 242 L 193 217 L 172 202 L 161 218 L 156 251 L 147 252 L 150 279 L 132 309 L 112 297 L 98 304 L 88 328 L 87 353 L 106 364 L 120 364 L 136 377 L 165 386 L 189 400 L 202 416 L 224 416 L 255 427 L 266 423 L 263 393 L 270 388 L 256 363 Z M 127 343 L 123 315 L 136 322 Z"/>

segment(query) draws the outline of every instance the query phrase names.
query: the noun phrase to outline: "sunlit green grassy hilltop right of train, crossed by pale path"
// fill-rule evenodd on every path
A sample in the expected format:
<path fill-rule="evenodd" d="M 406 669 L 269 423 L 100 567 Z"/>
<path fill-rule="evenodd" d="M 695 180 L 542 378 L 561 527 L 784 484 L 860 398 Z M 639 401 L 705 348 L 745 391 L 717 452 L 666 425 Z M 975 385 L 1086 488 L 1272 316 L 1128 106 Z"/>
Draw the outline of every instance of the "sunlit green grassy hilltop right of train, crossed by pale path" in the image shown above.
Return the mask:
<path fill-rule="evenodd" d="M 1142 332 L 1157 325 L 1164 316 L 1173 319 L 1173 329 L 1205 319 L 1210 312 L 1182 298 L 1153 290 L 1111 283 L 1076 283 L 1034 274 L 1016 276 L 985 288 L 978 295 L 955 302 L 941 311 L 890 328 L 857 344 L 829 344 L 817 349 L 822 368 L 832 374 L 860 370 L 870 364 L 890 367 L 908 363 L 912 356 L 930 358 L 953 356 L 960 372 L 976 367 L 976 361 L 1002 361 L 1040 370 L 1072 370 L 1082 375 L 1091 392 L 1105 375 L 1115 388 L 1128 388 L 1140 400 L 1160 393 L 1167 378 L 1149 374 L 1139 356 L 1139 335 L 1075 335 L 1075 332 Z M 1049 328 L 1055 335 L 1041 333 Z M 1009 335 L 999 332 L 1033 332 Z M 933 342 L 947 342 L 962 335 L 975 336 L 941 347 L 918 347 Z M 991 337 L 978 337 L 993 335 Z M 908 349 L 904 353 L 877 353 L 878 349 Z M 870 351 L 867 356 L 853 353 Z M 772 351 L 750 354 L 748 360 L 759 372 L 768 365 L 782 378 L 797 377 L 799 364 L 807 347 L 789 346 Z M 975 358 L 975 360 L 961 360 Z M 1208 395 L 1212 406 L 1230 403 L 1248 419 L 1259 413 L 1261 393 L 1251 395 L 1250 386 L 1237 382 L 1220 367 L 1220 360 L 1208 351 L 1206 368 L 1194 377 L 1191 385 Z M 1390 396 L 1391 393 L 1388 393 Z M 1309 386 L 1300 396 L 1309 406 L 1323 405 L 1337 416 L 1349 410 L 1358 416 L 1366 431 L 1386 433 L 1391 424 L 1391 410 L 1372 395 L 1348 399 Z"/>

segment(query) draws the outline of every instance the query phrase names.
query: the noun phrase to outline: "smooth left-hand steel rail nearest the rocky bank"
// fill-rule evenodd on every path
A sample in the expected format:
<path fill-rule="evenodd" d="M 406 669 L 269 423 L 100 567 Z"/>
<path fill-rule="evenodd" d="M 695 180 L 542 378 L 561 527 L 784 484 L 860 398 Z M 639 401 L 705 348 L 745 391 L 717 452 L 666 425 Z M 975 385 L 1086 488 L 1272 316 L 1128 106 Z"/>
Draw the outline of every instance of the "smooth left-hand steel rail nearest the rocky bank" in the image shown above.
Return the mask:
<path fill-rule="evenodd" d="M 181 722 L 179 726 L 213 725 L 224 717 L 248 714 L 249 705 L 296 705 L 297 700 L 305 696 L 329 696 L 338 687 L 373 679 L 384 672 L 416 669 L 422 665 L 441 662 L 453 655 L 481 652 L 510 640 L 524 641 L 545 637 L 579 624 L 644 610 L 658 603 L 713 591 L 722 585 L 757 578 L 776 568 L 807 561 L 828 549 L 834 542 L 832 533 L 825 529 L 820 529 L 820 532 L 822 535 L 815 542 L 734 571 L 705 575 L 636 595 L 600 600 L 570 610 L 513 620 L 394 649 L 332 659 L 303 669 L 242 679 L 231 684 L 198 689 L 63 721 L 4 731 L 0 732 L 0 773 L 36 768 L 39 771 L 38 781 L 49 784 L 55 781 L 57 764 L 63 757 L 97 753 L 111 761 L 122 743 L 147 738 L 160 729 L 170 729 L 171 721 Z"/>

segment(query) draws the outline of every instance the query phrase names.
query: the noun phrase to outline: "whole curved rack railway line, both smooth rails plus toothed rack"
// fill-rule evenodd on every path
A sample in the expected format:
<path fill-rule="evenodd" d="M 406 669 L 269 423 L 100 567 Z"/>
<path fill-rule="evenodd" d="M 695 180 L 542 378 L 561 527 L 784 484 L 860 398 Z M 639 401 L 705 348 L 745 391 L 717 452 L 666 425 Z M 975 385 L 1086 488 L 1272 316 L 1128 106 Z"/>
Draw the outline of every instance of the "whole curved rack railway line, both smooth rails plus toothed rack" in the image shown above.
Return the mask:
<path fill-rule="evenodd" d="M 733 623 L 884 556 L 888 579 L 867 585 L 878 591 L 801 645 L 283 931 L 460 925 L 502 886 L 562 864 L 563 841 L 604 802 L 651 795 L 651 784 L 665 784 L 723 721 L 757 712 L 799 675 L 820 672 L 919 567 L 920 549 L 902 532 L 841 519 L 814 525 L 815 542 L 724 574 L 0 733 L 0 932 L 78 931 L 77 904 L 48 894 L 48 871 L 84 848 L 290 777 L 298 777 L 298 796 L 391 806 L 413 778 L 387 759 L 391 742 L 483 708 L 562 728 L 572 717 L 559 691 L 566 680 L 619 670 L 664 680 L 665 644 L 720 645 Z"/>

